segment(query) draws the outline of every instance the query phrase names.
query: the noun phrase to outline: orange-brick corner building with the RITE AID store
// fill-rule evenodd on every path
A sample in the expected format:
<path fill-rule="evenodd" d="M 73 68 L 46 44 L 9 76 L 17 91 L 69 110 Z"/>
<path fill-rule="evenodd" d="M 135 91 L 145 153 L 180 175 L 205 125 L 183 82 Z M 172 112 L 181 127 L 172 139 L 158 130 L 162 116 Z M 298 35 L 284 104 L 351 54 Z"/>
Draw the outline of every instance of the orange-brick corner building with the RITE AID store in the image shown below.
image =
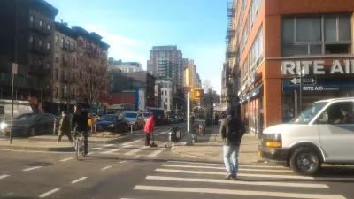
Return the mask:
<path fill-rule="evenodd" d="M 354 96 L 353 1 L 239 0 L 234 6 L 236 103 L 251 133 L 259 136 L 315 101 Z"/>

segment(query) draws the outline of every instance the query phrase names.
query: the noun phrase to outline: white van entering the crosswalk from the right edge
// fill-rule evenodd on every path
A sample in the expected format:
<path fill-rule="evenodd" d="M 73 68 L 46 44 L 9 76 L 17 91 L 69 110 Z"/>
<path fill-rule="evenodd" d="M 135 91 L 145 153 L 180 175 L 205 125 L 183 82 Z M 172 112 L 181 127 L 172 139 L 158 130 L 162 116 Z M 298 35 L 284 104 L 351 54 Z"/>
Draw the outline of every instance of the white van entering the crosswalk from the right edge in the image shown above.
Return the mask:
<path fill-rule="evenodd" d="M 323 163 L 354 164 L 354 97 L 312 103 L 289 123 L 266 128 L 258 155 L 302 175 Z"/>

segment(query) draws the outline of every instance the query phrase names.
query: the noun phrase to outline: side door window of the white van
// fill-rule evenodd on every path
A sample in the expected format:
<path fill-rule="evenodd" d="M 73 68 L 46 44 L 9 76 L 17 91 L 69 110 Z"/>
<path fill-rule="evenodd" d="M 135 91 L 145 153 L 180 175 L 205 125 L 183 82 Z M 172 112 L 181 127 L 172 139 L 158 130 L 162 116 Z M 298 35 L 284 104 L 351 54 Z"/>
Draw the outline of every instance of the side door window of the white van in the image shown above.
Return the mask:
<path fill-rule="evenodd" d="M 332 103 L 319 117 L 319 124 L 354 124 L 353 108 L 352 102 Z"/>

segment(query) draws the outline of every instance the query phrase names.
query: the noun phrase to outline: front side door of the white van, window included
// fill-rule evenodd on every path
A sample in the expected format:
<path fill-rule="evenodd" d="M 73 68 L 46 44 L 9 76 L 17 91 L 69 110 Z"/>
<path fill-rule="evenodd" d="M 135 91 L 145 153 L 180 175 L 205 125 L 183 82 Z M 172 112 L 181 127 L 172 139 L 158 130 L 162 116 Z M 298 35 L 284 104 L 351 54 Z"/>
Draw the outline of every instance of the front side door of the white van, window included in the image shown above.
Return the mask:
<path fill-rule="evenodd" d="M 319 117 L 319 137 L 326 162 L 354 163 L 354 103 L 336 102 Z"/>

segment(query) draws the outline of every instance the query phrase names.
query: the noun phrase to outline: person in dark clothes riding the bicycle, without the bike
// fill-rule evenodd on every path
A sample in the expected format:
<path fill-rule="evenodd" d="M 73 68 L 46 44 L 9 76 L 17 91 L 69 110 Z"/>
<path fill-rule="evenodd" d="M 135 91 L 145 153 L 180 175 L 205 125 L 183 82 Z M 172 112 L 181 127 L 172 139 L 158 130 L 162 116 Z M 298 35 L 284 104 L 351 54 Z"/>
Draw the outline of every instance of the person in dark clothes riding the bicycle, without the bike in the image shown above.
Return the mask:
<path fill-rule="evenodd" d="M 88 128 L 89 128 L 89 115 L 83 111 L 81 104 L 76 104 L 73 108 L 72 130 L 73 138 L 76 139 L 78 133 L 83 134 L 84 137 L 84 154 L 88 155 Z"/>

